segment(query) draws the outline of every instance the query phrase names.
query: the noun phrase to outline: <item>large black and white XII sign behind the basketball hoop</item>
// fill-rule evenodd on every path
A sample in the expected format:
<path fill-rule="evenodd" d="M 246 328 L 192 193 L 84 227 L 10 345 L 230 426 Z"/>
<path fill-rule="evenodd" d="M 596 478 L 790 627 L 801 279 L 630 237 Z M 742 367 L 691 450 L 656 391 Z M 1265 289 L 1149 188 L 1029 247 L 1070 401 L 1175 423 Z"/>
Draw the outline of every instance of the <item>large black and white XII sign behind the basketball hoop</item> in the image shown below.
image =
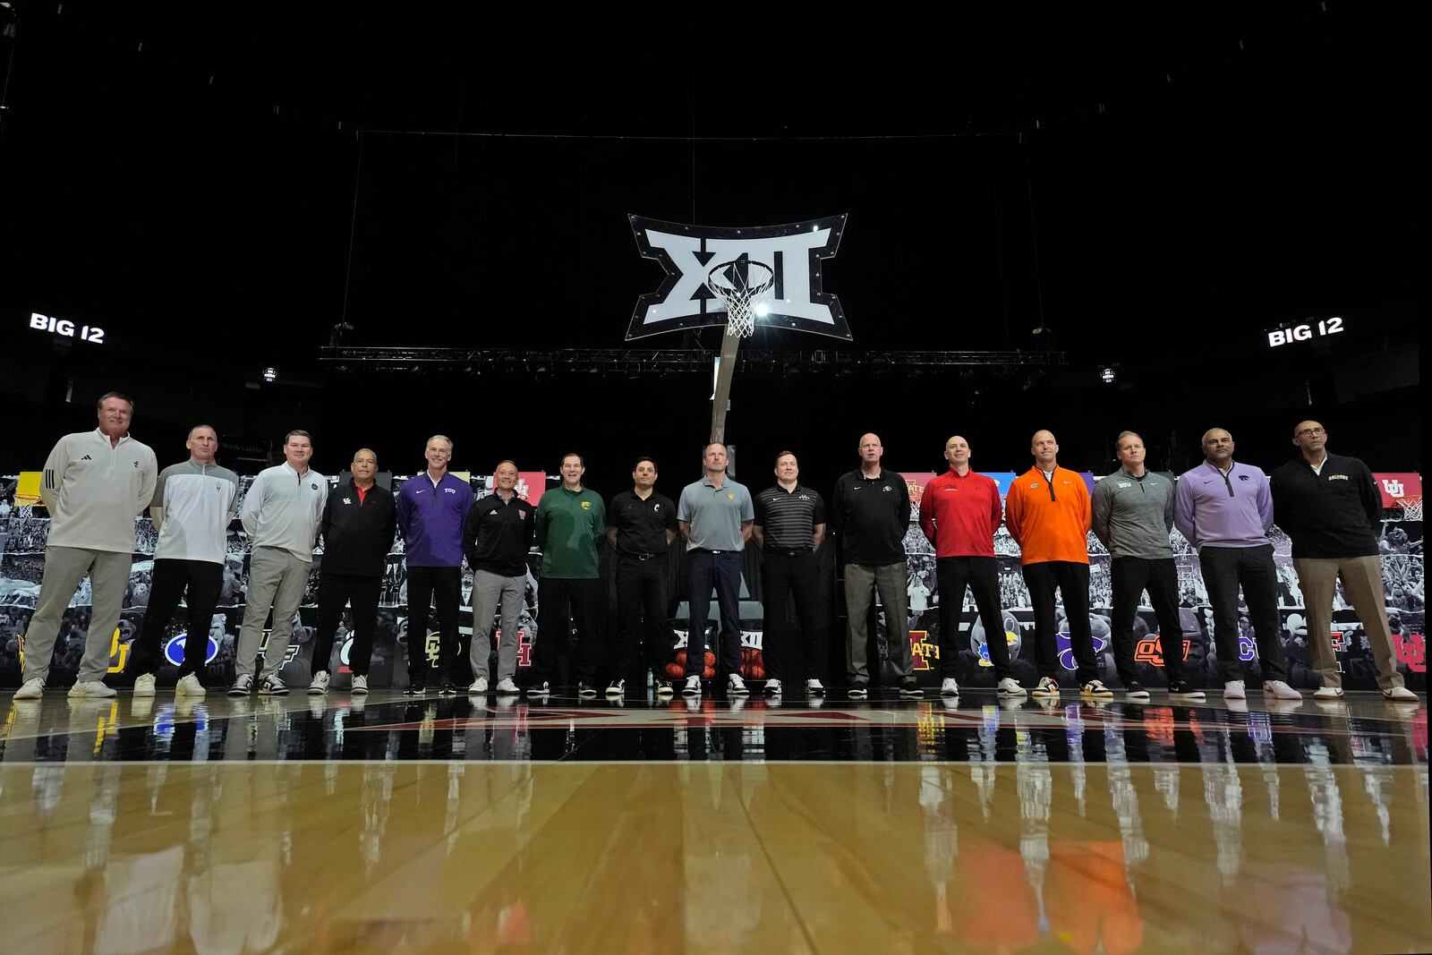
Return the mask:
<path fill-rule="evenodd" d="M 821 261 L 835 255 L 845 215 L 786 225 L 729 229 L 629 216 L 643 258 L 666 269 L 662 288 L 637 299 L 627 341 L 686 328 L 726 324 L 726 304 L 706 285 L 709 269 L 745 256 L 772 269 L 770 291 L 758 319 L 851 339 L 841 299 L 821 288 Z"/>

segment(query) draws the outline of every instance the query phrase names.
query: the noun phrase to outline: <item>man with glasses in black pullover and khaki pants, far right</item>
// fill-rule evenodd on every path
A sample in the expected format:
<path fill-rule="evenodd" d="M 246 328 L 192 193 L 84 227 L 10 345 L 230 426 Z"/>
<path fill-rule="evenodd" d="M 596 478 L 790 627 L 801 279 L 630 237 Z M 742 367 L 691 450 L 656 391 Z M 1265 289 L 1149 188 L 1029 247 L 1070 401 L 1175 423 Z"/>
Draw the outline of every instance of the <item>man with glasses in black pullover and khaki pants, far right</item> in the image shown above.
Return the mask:
<path fill-rule="evenodd" d="M 1382 694 L 1418 703 L 1402 684 L 1388 627 L 1378 558 L 1382 495 L 1372 471 L 1358 458 L 1327 452 L 1327 430 L 1317 421 L 1293 425 L 1296 457 L 1273 471 L 1273 518 L 1293 538 L 1293 570 L 1307 607 L 1307 643 L 1322 686 L 1317 700 L 1342 697 L 1342 673 L 1332 647 L 1332 611 L 1337 581 L 1358 610 Z"/>

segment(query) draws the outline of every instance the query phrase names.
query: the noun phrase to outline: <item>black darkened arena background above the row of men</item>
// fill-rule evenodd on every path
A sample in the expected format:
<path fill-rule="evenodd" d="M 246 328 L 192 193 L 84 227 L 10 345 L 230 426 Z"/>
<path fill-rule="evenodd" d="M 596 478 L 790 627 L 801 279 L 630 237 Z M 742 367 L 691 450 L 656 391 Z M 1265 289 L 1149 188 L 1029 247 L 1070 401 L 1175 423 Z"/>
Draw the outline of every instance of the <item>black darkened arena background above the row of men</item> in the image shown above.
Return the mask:
<path fill-rule="evenodd" d="M 1067 352 L 1048 375 L 737 377 L 727 437 L 755 485 L 789 447 L 828 487 L 868 430 L 896 470 L 942 470 L 959 432 L 1000 471 L 1051 427 L 1061 464 L 1104 471 L 1124 428 L 1183 470 L 1220 425 L 1272 468 L 1305 417 L 1375 470 L 1421 467 L 1411 4 L 954 6 L 17 3 L 3 470 L 39 468 L 119 388 L 162 462 L 199 420 L 245 472 L 292 427 L 325 472 L 358 445 L 414 471 L 441 431 L 474 471 L 580 450 L 606 494 L 656 454 L 674 493 L 707 375 L 318 362 L 344 315 L 351 344 L 619 346 L 662 275 L 632 212 L 845 212 L 823 271 L 851 346 L 1032 349 L 1042 324 Z M 32 311 L 109 341 L 57 345 Z M 1267 348 L 1330 315 L 1337 339 Z"/>

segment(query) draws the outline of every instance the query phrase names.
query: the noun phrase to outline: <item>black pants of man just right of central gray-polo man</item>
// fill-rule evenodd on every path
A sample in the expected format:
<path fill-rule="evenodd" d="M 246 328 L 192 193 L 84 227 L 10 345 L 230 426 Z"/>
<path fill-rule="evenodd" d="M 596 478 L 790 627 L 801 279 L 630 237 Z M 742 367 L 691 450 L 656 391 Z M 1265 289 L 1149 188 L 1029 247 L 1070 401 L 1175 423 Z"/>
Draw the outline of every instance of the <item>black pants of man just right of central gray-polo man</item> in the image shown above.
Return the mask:
<path fill-rule="evenodd" d="M 796 620 L 800 624 L 799 644 L 789 626 L 792 596 L 796 598 Z M 789 676 L 823 682 L 829 654 L 825 649 L 825 614 L 821 611 L 821 558 L 815 551 L 762 551 L 760 600 L 766 607 L 766 627 L 760 639 L 766 679 Z M 796 666 L 798 661 L 800 666 Z M 790 664 L 789 674 L 786 664 Z"/>

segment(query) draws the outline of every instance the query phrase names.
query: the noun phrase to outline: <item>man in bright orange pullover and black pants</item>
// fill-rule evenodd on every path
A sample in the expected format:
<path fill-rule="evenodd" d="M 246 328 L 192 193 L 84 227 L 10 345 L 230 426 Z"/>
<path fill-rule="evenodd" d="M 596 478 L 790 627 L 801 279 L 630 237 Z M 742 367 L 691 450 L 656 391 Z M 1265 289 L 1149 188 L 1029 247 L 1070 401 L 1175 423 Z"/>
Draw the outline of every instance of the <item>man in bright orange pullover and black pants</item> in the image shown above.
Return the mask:
<path fill-rule="evenodd" d="M 1053 431 L 1035 431 L 1030 440 L 1034 467 L 1014 480 L 1004 503 L 1004 523 L 1020 546 L 1020 566 L 1034 604 L 1034 660 L 1040 683 L 1031 693 L 1040 697 L 1060 694 L 1054 626 L 1054 594 L 1058 591 L 1068 619 L 1080 693 L 1107 700 L 1114 692 L 1098 679 L 1088 623 L 1088 487 L 1080 474 L 1058 465 L 1058 452 Z"/>

